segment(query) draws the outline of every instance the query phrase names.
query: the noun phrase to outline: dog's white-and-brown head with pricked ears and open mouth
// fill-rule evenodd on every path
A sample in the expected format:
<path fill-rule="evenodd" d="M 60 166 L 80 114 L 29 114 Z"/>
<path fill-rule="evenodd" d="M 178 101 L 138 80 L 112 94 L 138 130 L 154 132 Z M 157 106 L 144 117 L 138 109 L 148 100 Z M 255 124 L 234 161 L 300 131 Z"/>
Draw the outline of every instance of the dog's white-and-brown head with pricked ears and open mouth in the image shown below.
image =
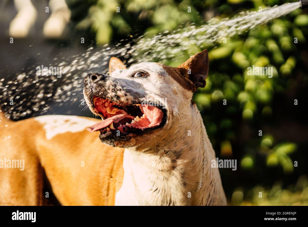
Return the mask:
<path fill-rule="evenodd" d="M 90 73 L 84 79 L 87 105 L 103 120 L 88 130 L 99 131 L 105 144 L 136 149 L 171 136 L 180 127 L 179 115 L 190 114 L 193 92 L 205 87 L 208 65 L 207 50 L 178 67 L 143 62 L 126 69 L 111 57 L 109 75 Z"/>

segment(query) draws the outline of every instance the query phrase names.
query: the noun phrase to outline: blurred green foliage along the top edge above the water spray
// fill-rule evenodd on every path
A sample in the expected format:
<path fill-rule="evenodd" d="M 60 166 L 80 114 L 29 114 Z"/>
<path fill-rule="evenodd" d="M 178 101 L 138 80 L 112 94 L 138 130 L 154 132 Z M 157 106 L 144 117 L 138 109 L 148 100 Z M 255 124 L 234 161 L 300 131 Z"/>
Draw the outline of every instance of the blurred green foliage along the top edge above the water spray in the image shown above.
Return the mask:
<path fill-rule="evenodd" d="M 181 23 L 201 22 L 197 7 L 211 1 L 174 0 L 66 0 L 76 29 L 91 28 L 96 43 L 135 32 L 157 34 L 171 31 Z M 190 12 L 188 13 L 188 7 Z M 80 11 L 83 10 L 83 13 Z M 87 14 L 84 11 L 88 11 Z"/>

